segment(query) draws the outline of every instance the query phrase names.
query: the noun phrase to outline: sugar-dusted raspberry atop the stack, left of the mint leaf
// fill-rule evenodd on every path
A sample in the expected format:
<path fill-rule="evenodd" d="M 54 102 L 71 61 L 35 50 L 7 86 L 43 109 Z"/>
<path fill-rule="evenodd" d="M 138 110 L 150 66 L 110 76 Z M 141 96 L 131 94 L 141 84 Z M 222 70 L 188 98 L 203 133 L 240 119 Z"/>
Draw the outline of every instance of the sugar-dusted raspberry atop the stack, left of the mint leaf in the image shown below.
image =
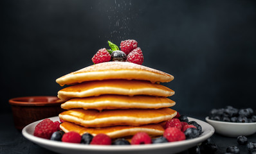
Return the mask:
<path fill-rule="evenodd" d="M 109 62 L 111 60 L 111 55 L 107 51 L 107 49 L 99 49 L 97 53 L 91 58 L 94 64 L 102 63 L 102 62 Z"/>

